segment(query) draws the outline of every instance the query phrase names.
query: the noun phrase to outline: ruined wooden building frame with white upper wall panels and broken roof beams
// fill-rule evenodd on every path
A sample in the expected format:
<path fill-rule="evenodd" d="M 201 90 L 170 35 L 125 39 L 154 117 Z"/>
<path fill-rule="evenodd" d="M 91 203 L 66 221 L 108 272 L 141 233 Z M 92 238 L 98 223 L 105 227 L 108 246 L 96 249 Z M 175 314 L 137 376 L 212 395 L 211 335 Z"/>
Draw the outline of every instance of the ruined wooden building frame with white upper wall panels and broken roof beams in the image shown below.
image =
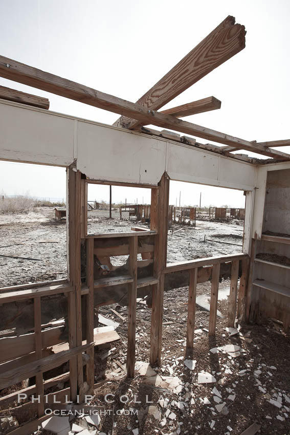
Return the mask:
<path fill-rule="evenodd" d="M 196 285 L 207 280 L 211 280 L 209 335 L 215 334 L 219 280 L 228 277 L 230 327 L 236 318 L 248 321 L 257 315 L 271 315 L 288 328 L 290 269 L 261 259 L 258 254 L 270 251 L 289 257 L 289 210 L 284 198 L 290 196 L 290 155 L 272 148 L 288 145 L 289 141 L 247 141 L 174 117 L 218 108 L 213 98 L 190 103 L 183 109 L 172 108 L 170 114 L 158 111 L 242 50 L 244 35 L 243 26 L 235 24 L 233 17 L 226 18 L 137 103 L 0 56 L 2 77 L 122 115 L 110 126 L 15 101 L 17 91 L 11 93 L 11 98 L 0 100 L 0 159 L 67 168 L 68 279 L 0 290 L 1 331 L 9 325 L 14 334 L 0 339 L 0 388 L 35 376 L 36 384 L 29 387 L 29 392 L 33 390 L 41 398 L 37 404 L 39 419 L 15 429 L 14 434 L 32 433 L 41 419 L 47 418 L 43 417 L 48 406 L 43 392 L 58 382 L 43 382 L 43 373 L 51 368 L 67 361 L 70 364 L 70 371 L 65 374 L 70 380 L 69 392 L 62 390 L 60 398 L 65 393 L 74 402 L 78 394 L 82 398 L 84 393 L 93 391 L 94 346 L 116 339 L 115 331 L 101 337 L 95 329 L 97 308 L 101 305 L 118 302 L 128 306 L 130 377 L 135 370 L 137 296 L 148 295 L 146 300 L 151 307 L 152 364 L 160 363 L 162 357 L 163 298 L 168 289 L 189 286 L 188 350 L 194 339 Z M 200 58 L 204 59 L 202 63 Z M 192 137 L 144 127 L 146 124 L 223 146 L 198 143 Z M 272 160 L 261 162 L 233 154 L 237 149 L 254 151 Z M 242 253 L 167 264 L 170 180 L 245 192 Z M 150 229 L 88 234 L 88 183 L 150 188 Z M 138 254 L 142 254 L 142 260 Z M 111 266 L 110 256 L 116 255 L 129 255 L 125 266 Z M 56 315 L 64 322 L 51 327 L 50 321 Z M 11 395 L 0 399 L 0 403 L 9 401 Z"/>

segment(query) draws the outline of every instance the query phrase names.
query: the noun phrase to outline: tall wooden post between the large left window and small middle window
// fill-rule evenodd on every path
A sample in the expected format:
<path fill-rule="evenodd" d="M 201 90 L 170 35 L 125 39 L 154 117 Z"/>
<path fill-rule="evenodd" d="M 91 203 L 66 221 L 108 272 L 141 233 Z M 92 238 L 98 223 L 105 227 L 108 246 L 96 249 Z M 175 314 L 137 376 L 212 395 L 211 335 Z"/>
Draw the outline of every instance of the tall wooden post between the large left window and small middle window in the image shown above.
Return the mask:
<path fill-rule="evenodd" d="M 68 278 L 71 286 L 75 286 L 76 252 L 75 252 L 75 171 L 66 169 L 66 252 L 68 253 Z M 76 294 L 68 293 L 69 345 L 70 349 L 77 345 L 76 330 Z M 70 359 L 71 400 L 77 400 L 77 357 Z"/>

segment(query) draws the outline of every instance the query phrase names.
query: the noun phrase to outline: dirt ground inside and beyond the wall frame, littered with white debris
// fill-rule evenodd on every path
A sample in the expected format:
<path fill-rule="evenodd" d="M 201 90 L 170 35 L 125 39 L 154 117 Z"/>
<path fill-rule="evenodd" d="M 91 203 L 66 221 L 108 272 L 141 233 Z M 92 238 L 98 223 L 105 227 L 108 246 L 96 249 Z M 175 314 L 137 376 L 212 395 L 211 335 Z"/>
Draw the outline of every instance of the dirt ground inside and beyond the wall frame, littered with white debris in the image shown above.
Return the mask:
<path fill-rule="evenodd" d="M 88 213 L 89 232 L 104 231 L 104 228 L 105 231 L 128 231 L 131 224 L 120 222 L 117 211 L 111 221 L 106 214 L 107 211 L 102 210 Z M 21 262 L 19 258 L 0 257 L 2 286 L 50 279 L 48 275 L 52 270 L 55 274 L 51 275 L 54 275 L 51 279 L 65 277 L 65 222 L 56 222 L 53 218 L 54 211 L 51 209 L 41 209 L 26 216 L 0 216 L 0 253 L 41 259 L 41 262 L 27 259 Z M 174 233 L 179 228 L 174 226 L 172 236 L 170 233 L 168 236 L 168 262 L 241 250 L 236 245 L 207 242 L 207 238 L 213 238 L 241 245 L 242 226 L 235 223 L 200 221 L 196 229 L 186 228 Z M 19 267 L 20 271 L 17 269 Z M 228 289 L 229 285 L 229 281 L 222 281 L 220 290 Z M 210 282 L 199 284 L 197 295 L 209 296 Z M 90 404 L 102 412 L 98 426 L 100 433 L 240 435 L 250 425 L 257 423 L 260 426 L 259 433 L 289 435 L 290 341 L 282 332 L 281 325 L 272 320 L 266 320 L 263 324 L 242 325 L 238 334 L 230 336 L 226 331 L 226 297 L 218 301 L 222 317 L 217 318 L 215 337 L 209 337 L 209 313 L 196 307 L 194 350 L 192 355 L 186 357 L 187 301 L 188 287 L 165 293 L 162 360 L 160 367 L 154 367 L 161 377 L 178 380 L 179 386 L 175 389 L 164 385 L 148 385 L 149 378 L 141 376 L 138 369 L 134 379 L 126 377 L 127 307 L 115 304 L 100 309 L 101 314 L 120 323 L 116 330 L 120 340 L 95 349 L 95 382 L 100 382 L 100 386 L 95 390 Z M 110 311 L 111 308 L 125 320 Z M 138 301 L 137 361 L 149 361 L 150 321 L 151 310 L 141 300 Z M 236 354 L 227 353 L 221 349 L 227 344 L 234 344 L 240 349 Z M 215 348 L 216 352 L 210 351 Z M 109 349 L 113 349 L 111 355 L 101 359 Z M 185 366 L 186 358 L 196 361 L 192 370 Z M 67 366 L 63 366 L 60 373 L 67 369 Z M 213 375 L 215 381 L 198 383 L 198 373 L 202 371 Z M 58 387 L 68 386 L 65 383 Z M 216 390 L 213 391 L 214 387 Z M 113 403 L 106 403 L 107 394 L 111 395 L 108 399 Z M 223 406 L 220 411 L 216 408 L 219 404 Z M 13 409 L 7 414 L 13 414 Z M 84 418 L 74 418 L 70 424 L 73 422 L 87 426 L 92 433 L 96 429 L 87 424 Z M 51 432 L 43 429 L 35 433 L 51 435 Z"/>

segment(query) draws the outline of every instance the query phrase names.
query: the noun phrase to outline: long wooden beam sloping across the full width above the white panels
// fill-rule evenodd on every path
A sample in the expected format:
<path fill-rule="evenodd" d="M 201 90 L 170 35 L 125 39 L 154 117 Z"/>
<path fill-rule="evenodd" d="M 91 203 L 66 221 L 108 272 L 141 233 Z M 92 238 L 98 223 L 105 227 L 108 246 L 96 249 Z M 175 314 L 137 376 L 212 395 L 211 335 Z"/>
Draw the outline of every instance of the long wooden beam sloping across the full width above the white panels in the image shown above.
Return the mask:
<path fill-rule="evenodd" d="M 280 160 L 290 160 L 290 155 L 281 153 L 262 145 L 253 144 L 244 139 L 217 132 L 201 125 L 174 118 L 171 115 L 147 110 L 139 104 L 132 103 L 113 95 L 105 94 L 83 84 L 76 83 L 50 74 L 15 60 L 0 56 L 0 76 L 33 86 L 65 98 L 71 98 L 85 104 L 102 108 L 109 112 L 139 119 L 144 125 L 153 124 L 175 130 L 191 136 L 197 136 L 214 142 L 240 147 L 254 153 L 263 154 Z"/>

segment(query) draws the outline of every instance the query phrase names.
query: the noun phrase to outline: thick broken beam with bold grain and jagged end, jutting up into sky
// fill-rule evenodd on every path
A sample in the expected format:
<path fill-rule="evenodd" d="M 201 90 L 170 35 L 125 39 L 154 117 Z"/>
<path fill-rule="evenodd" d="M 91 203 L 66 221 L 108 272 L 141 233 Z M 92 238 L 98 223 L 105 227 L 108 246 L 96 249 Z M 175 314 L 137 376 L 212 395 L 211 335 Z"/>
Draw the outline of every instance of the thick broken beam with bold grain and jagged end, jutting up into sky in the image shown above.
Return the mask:
<path fill-rule="evenodd" d="M 137 104 L 159 110 L 192 84 L 209 74 L 226 60 L 241 51 L 245 46 L 244 26 L 235 24 L 235 17 L 228 16 L 205 39 L 191 50 L 160 79 Z M 136 119 L 118 119 L 113 125 L 135 128 L 140 125 Z"/>

